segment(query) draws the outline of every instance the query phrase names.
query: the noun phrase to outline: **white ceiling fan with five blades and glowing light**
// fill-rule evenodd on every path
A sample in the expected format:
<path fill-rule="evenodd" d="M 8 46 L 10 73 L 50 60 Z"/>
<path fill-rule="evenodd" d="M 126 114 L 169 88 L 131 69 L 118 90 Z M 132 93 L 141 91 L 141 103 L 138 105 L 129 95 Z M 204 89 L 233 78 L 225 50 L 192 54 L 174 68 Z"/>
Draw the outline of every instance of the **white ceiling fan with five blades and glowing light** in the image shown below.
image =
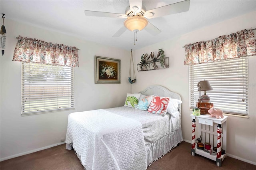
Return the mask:
<path fill-rule="evenodd" d="M 126 18 L 124 21 L 124 26 L 120 28 L 112 37 L 119 37 L 126 31 L 126 28 L 136 34 L 145 28 L 145 30 L 150 34 L 157 35 L 161 31 L 156 28 L 156 26 L 148 22 L 147 19 L 186 12 L 189 10 L 190 0 L 184 0 L 174 4 L 161 6 L 152 10 L 145 10 L 146 8 L 142 6 L 142 0 L 129 0 L 129 4 L 130 6 L 126 8 L 125 14 L 89 10 L 85 10 L 84 13 L 86 16 Z"/>

